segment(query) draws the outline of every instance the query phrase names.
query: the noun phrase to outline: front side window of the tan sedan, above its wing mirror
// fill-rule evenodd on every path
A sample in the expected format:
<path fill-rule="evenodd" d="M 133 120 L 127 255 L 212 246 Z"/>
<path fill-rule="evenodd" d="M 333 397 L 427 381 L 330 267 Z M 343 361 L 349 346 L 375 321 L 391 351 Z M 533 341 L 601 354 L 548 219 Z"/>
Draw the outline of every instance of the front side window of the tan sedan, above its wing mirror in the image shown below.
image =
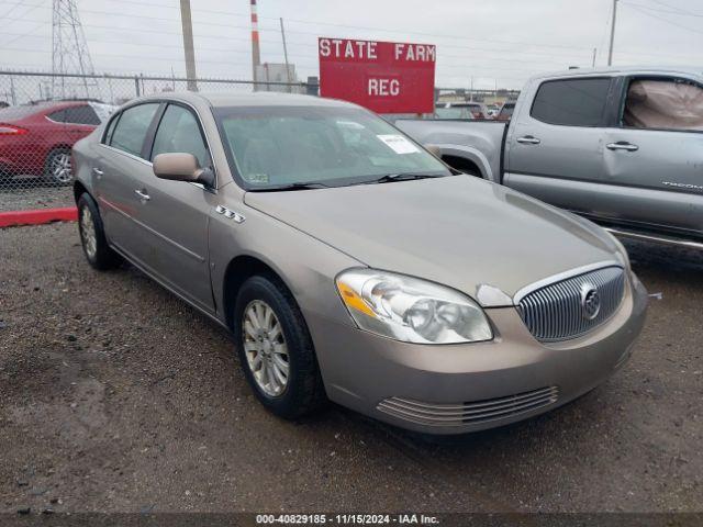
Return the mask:
<path fill-rule="evenodd" d="M 211 165 L 196 115 L 183 106 L 169 104 L 154 137 L 152 159 L 158 154 L 179 152 L 196 156 L 201 167 Z"/>

